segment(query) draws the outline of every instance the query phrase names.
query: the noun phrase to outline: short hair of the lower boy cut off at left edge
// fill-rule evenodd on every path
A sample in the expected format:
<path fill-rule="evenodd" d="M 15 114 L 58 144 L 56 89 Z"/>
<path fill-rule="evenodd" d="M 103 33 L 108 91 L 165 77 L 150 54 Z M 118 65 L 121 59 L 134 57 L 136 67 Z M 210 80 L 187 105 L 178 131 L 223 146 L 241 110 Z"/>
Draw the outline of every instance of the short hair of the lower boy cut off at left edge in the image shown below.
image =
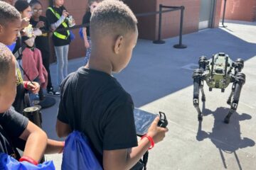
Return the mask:
<path fill-rule="evenodd" d="M 13 54 L 9 48 L 0 42 L 0 86 L 4 85 L 11 67 Z"/>

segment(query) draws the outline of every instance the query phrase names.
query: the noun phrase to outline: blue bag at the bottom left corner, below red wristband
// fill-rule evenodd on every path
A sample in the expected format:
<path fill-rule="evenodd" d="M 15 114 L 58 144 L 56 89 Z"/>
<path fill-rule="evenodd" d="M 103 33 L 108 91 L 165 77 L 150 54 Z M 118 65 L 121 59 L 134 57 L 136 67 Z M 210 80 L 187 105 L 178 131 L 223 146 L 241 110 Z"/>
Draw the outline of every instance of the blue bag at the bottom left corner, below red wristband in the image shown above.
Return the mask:
<path fill-rule="evenodd" d="M 0 153 L 0 169 L 3 170 L 55 170 L 52 161 L 43 162 L 43 164 L 30 164 L 28 162 L 18 162 L 8 154 Z"/>

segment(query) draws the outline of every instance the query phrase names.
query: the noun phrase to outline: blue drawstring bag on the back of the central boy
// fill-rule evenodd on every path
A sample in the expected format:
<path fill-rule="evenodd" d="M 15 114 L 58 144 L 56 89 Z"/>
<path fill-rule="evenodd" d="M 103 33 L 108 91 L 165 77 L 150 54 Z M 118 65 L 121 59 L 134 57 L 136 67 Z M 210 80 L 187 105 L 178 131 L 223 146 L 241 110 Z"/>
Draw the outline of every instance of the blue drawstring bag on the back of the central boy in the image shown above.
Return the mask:
<path fill-rule="evenodd" d="M 61 169 L 102 170 L 102 166 L 90 149 L 89 140 L 81 132 L 73 131 L 65 140 Z"/>

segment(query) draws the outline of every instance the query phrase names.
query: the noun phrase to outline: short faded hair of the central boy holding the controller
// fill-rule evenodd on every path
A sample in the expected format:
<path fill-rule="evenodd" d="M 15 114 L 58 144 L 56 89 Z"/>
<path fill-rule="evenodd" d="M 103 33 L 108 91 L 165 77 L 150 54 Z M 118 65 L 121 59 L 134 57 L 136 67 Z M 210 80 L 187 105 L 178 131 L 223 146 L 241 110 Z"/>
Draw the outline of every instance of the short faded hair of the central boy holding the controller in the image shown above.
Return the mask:
<path fill-rule="evenodd" d="M 132 10 L 119 0 L 105 0 L 95 8 L 90 20 L 90 34 L 125 35 L 137 30 L 137 18 Z"/>

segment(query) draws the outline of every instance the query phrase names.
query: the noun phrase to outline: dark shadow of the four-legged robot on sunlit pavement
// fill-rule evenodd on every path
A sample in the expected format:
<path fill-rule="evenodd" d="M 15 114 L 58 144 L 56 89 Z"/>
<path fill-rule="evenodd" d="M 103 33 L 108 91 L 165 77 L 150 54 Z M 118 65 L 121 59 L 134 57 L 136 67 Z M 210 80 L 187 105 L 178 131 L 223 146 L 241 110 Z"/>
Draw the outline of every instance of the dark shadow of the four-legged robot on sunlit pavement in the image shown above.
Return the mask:
<path fill-rule="evenodd" d="M 240 132 L 240 121 L 250 120 L 252 117 L 247 113 L 242 113 L 242 115 L 237 112 L 233 113 L 230 118 L 230 123 L 225 124 L 223 122 L 225 115 L 228 114 L 229 108 L 217 108 L 216 111 L 210 111 L 203 108 L 203 115 L 213 115 L 214 125 L 212 132 L 205 132 L 202 130 L 202 121 L 198 122 L 198 133 L 196 135 L 196 140 L 199 142 L 209 138 L 211 142 L 219 149 L 220 157 L 223 161 L 223 166 L 227 169 L 227 164 L 225 163 L 225 157 L 223 152 L 228 154 L 234 154 L 234 157 L 238 163 L 238 168 L 241 170 L 242 166 L 236 154 L 236 150 L 245 147 L 255 146 L 255 141 L 248 137 L 241 137 Z"/>

